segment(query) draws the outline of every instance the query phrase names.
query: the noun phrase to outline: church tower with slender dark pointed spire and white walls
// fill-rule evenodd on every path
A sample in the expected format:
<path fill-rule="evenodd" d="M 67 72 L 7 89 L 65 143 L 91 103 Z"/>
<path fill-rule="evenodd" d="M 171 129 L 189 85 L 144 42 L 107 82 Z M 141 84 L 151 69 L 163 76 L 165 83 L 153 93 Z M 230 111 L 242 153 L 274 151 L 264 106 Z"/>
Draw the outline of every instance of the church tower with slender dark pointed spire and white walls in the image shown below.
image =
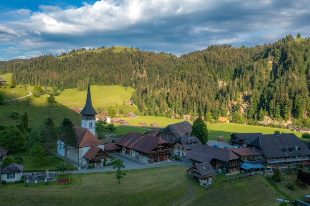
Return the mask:
<path fill-rule="evenodd" d="M 82 127 L 87 128 L 96 136 L 95 115 L 97 114 L 97 112 L 92 105 L 90 82 L 88 82 L 88 90 L 87 90 L 85 107 L 83 108 L 80 114 L 82 115 Z"/>

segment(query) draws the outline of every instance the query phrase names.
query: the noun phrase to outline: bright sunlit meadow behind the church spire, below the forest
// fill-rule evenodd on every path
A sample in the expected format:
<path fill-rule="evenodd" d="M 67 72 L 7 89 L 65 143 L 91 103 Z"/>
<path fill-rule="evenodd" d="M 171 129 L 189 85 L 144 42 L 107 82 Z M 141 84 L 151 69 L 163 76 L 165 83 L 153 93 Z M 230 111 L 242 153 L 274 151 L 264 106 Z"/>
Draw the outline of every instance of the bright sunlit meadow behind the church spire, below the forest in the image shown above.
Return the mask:
<path fill-rule="evenodd" d="M 131 87 L 123 86 L 99 86 L 91 85 L 92 103 L 96 110 L 107 110 L 112 106 L 115 111 L 123 109 L 125 112 L 138 111 L 136 105 L 123 105 L 124 102 L 131 98 L 134 89 Z M 85 106 L 87 91 L 78 91 L 74 89 L 65 89 L 55 100 L 69 108 Z M 117 106 L 116 106 L 117 104 Z"/>

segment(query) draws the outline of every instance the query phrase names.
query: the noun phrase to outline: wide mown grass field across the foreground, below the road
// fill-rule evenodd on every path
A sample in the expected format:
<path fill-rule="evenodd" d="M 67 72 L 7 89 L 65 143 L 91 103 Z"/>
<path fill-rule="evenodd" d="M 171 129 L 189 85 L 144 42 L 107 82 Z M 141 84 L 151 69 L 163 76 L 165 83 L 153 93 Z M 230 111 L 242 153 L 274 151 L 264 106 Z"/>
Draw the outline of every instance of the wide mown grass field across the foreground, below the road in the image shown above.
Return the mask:
<path fill-rule="evenodd" d="M 8 184 L 0 188 L 1 206 L 277 206 L 284 198 L 261 175 L 221 181 L 205 189 L 181 165 L 128 170 L 117 183 L 115 172 L 71 174 L 71 182 L 49 185 Z M 294 180 L 295 177 L 292 177 Z M 281 188 L 282 189 L 282 188 Z M 297 188 L 292 194 L 307 193 Z M 298 194 L 301 193 L 301 194 Z"/>

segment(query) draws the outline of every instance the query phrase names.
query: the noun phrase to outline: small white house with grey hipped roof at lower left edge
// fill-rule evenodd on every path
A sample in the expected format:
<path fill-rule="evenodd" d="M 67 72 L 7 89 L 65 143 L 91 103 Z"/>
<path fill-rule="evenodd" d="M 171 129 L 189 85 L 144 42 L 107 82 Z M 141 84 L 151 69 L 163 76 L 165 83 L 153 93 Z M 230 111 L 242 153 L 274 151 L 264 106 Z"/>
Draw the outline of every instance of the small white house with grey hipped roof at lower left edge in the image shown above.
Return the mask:
<path fill-rule="evenodd" d="M 16 182 L 21 180 L 24 171 L 23 165 L 11 163 L 6 165 L 1 170 L 1 179 L 6 182 Z"/>

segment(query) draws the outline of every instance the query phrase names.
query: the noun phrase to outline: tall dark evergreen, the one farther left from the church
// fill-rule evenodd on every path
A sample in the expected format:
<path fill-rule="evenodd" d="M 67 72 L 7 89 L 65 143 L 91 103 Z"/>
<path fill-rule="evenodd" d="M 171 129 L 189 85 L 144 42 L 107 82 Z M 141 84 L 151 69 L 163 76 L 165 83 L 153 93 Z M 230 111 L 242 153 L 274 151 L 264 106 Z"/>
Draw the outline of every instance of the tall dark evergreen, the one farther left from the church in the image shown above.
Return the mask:
<path fill-rule="evenodd" d="M 41 144 L 44 147 L 44 149 L 48 152 L 49 166 L 50 166 L 52 147 L 57 140 L 56 128 L 51 117 L 47 118 L 44 121 L 40 135 L 41 135 Z"/>

